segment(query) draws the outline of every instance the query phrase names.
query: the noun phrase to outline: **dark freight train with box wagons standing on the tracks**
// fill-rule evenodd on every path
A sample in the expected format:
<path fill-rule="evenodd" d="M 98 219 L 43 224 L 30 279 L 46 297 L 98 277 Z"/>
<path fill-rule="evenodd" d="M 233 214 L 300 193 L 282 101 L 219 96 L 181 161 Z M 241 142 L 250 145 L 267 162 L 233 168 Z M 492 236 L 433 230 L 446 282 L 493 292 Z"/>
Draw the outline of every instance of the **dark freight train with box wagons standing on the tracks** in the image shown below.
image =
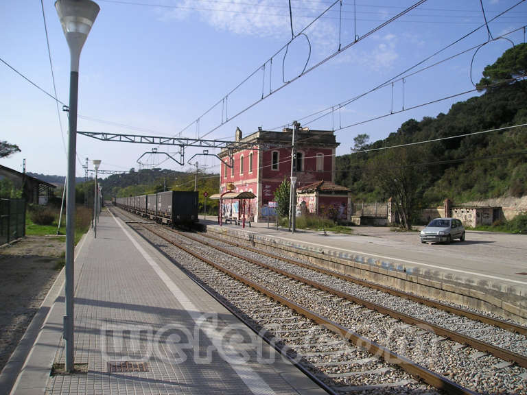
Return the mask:
<path fill-rule="evenodd" d="M 198 192 L 167 191 L 151 195 L 115 197 L 115 205 L 171 226 L 198 222 Z"/>

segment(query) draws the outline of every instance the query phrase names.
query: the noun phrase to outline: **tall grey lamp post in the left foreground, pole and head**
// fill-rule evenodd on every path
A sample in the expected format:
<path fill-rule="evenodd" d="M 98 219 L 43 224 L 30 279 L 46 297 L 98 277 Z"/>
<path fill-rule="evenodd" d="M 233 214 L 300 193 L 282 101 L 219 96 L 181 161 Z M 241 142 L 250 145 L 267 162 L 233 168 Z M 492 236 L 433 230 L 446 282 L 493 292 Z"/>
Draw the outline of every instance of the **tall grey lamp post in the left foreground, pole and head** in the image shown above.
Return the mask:
<path fill-rule="evenodd" d="M 67 372 L 73 371 L 73 254 L 75 239 L 75 155 L 77 151 L 77 101 L 79 88 L 79 60 L 82 45 L 99 13 L 99 6 L 91 0 L 57 0 L 55 3 L 60 25 L 66 36 L 70 55 L 69 75 L 69 136 L 66 195 L 66 265 L 64 339 Z"/>

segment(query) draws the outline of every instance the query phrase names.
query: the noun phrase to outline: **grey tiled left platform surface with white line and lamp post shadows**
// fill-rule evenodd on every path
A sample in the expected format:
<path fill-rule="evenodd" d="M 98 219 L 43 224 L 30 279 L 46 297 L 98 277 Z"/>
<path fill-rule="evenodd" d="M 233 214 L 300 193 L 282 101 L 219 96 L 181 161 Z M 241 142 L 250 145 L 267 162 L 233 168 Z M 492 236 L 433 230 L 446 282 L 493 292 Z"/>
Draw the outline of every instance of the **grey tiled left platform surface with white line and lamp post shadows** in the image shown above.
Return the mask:
<path fill-rule="evenodd" d="M 16 378 L 12 394 L 325 393 L 267 344 L 257 344 L 235 316 L 119 219 L 103 213 L 97 239 L 89 232 L 81 243 L 75 260 L 80 372 L 49 376 L 65 355 L 59 279 L 23 369 L 6 373 Z M 22 355 L 19 350 L 16 359 Z M 146 371 L 113 371 L 119 366 Z"/>

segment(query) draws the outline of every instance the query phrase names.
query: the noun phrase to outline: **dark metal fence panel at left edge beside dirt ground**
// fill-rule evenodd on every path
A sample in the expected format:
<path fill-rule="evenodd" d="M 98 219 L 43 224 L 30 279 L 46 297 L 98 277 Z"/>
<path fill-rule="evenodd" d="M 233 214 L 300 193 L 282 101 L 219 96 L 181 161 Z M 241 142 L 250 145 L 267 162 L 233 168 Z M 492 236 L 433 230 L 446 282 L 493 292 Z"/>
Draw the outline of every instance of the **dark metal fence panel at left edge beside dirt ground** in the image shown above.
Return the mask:
<path fill-rule="evenodd" d="M 0 199 L 0 245 L 25 236 L 25 200 Z"/>

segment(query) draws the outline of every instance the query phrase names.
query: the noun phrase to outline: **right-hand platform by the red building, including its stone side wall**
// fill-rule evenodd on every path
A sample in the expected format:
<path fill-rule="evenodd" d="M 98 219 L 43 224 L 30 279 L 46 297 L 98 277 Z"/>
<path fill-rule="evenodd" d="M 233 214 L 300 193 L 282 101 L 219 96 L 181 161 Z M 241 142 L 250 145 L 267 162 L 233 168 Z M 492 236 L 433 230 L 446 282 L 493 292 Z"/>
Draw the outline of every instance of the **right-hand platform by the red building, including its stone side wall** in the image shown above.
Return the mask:
<path fill-rule="evenodd" d="M 351 235 L 301 230 L 292 233 L 272 222 L 242 228 L 200 222 L 208 232 L 245 239 L 259 248 L 299 252 L 317 262 L 373 283 L 421 296 L 490 311 L 527 324 L 527 235 L 467 231 L 466 241 L 422 244 L 419 232 L 386 227 L 352 227 Z"/>

